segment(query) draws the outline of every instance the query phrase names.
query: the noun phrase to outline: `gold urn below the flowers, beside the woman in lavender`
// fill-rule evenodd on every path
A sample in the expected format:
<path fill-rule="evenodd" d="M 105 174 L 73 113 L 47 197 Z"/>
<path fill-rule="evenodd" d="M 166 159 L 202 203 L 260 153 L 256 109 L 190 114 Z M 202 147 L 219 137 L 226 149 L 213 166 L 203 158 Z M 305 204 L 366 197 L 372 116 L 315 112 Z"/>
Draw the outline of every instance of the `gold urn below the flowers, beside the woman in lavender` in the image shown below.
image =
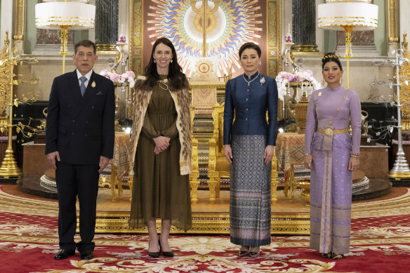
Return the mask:
<path fill-rule="evenodd" d="M 306 113 L 307 105 L 309 100 L 307 99 L 306 92 L 303 90 L 303 86 L 310 86 L 310 82 L 290 82 L 289 87 L 293 88 L 293 95 L 287 102 L 286 109 L 288 110 L 289 116 L 296 121 L 296 126 L 298 126 L 298 133 L 305 133 L 306 129 Z M 302 95 L 299 100 L 296 100 L 296 94 L 298 93 L 298 88 L 302 88 Z"/>

